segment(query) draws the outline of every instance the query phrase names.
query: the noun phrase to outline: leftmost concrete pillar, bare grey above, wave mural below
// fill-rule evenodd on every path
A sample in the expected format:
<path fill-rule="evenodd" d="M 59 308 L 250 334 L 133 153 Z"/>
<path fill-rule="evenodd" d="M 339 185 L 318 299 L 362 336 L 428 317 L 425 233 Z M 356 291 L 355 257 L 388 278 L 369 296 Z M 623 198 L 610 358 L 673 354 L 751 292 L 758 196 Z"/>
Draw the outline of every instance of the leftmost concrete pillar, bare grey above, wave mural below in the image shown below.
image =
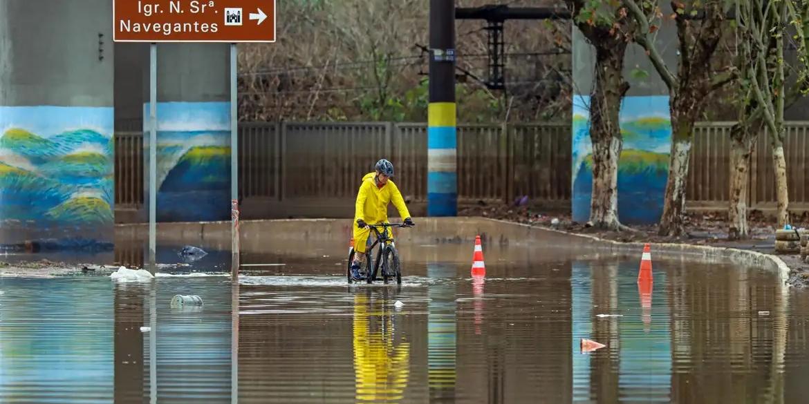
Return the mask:
<path fill-rule="evenodd" d="M 0 243 L 112 249 L 112 2 L 0 2 Z"/>

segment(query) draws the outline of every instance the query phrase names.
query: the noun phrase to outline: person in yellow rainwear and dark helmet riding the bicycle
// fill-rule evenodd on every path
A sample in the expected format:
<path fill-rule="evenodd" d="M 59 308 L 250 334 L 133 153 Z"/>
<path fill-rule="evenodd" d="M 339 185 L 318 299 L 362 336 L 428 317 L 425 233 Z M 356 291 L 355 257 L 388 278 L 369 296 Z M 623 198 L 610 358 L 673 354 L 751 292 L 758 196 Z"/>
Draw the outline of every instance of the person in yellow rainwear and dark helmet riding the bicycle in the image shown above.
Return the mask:
<path fill-rule="evenodd" d="M 354 207 L 354 220 L 357 227 L 354 228 L 354 261 L 351 263 L 351 277 L 354 280 L 362 279 L 359 268 L 365 261 L 365 249 L 371 229 L 367 225 L 380 225 L 388 223 L 388 204 L 391 202 L 399 211 L 400 217 L 404 217 L 405 225 L 415 225 L 410 218 L 407 205 L 393 183 L 393 164 L 384 158 L 376 162 L 375 171 L 362 177 L 362 184 L 357 193 L 357 203 Z M 385 228 L 384 231 L 391 231 Z M 390 234 L 392 238 L 392 232 Z"/>

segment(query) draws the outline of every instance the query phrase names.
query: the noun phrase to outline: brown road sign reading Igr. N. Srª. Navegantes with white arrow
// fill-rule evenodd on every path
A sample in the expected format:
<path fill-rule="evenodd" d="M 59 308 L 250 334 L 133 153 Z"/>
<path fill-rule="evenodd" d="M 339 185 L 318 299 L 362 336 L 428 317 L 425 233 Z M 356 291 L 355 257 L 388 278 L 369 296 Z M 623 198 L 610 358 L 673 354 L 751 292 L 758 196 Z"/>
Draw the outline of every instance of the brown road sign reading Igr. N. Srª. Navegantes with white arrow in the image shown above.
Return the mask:
<path fill-rule="evenodd" d="M 275 0 L 113 0 L 116 42 L 275 42 Z"/>

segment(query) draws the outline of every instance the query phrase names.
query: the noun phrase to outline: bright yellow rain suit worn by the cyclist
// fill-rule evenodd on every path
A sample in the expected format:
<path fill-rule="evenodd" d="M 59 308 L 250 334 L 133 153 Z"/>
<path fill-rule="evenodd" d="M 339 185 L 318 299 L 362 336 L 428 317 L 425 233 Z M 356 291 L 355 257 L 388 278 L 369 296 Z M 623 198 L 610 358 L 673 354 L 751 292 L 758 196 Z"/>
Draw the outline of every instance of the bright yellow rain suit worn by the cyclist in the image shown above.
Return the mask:
<path fill-rule="evenodd" d="M 362 177 L 362 185 L 359 187 L 357 203 L 354 207 L 354 250 L 361 254 L 365 252 L 365 243 L 368 240 L 368 235 L 371 234 L 371 229 L 358 228 L 357 221 L 359 219 L 369 225 L 388 223 L 388 204 L 391 202 L 393 202 L 393 206 L 399 211 L 399 216 L 403 220 L 410 217 L 407 206 L 404 204 L 404 198 L 402 198 L 399 188 L 396 187 L 396 183 L 388 179 L 388 183 L 380 188 L 376 186 L 375 176 L 376 172 L 371 172 Z M 390 235 L 393 237 L 392 232 Z"/>

